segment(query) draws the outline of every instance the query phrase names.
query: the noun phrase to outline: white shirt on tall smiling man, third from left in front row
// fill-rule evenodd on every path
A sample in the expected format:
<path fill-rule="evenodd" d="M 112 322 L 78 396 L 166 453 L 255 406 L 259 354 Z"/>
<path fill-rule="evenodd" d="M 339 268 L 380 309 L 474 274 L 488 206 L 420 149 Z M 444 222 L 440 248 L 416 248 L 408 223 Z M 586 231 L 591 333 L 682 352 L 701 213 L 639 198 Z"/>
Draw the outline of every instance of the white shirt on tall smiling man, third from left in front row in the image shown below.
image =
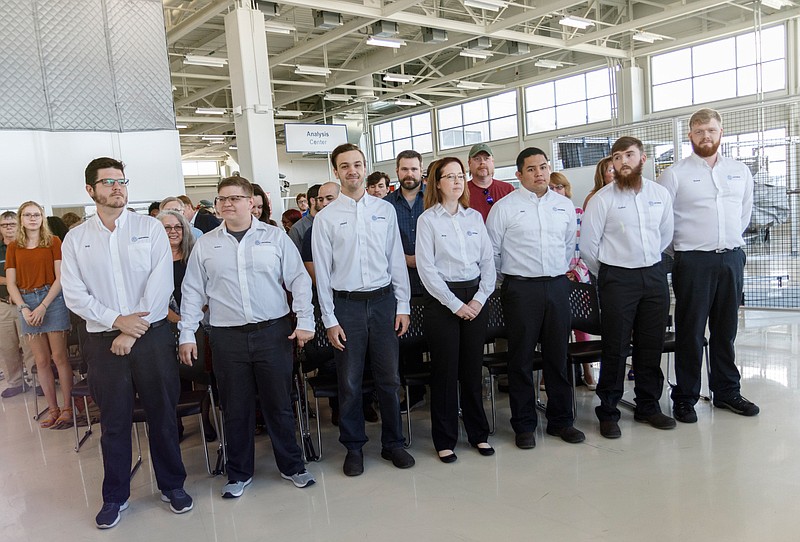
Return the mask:
<path fill-rule="evenodd" d="M 314 218 L 311 230 L 317 295 L 326 328 L 338 325 L 333 290 L 369 292 L 391 284 L 397 314 L 411 314 L 411 287 L 391 203 L 340 194 Z"/>

